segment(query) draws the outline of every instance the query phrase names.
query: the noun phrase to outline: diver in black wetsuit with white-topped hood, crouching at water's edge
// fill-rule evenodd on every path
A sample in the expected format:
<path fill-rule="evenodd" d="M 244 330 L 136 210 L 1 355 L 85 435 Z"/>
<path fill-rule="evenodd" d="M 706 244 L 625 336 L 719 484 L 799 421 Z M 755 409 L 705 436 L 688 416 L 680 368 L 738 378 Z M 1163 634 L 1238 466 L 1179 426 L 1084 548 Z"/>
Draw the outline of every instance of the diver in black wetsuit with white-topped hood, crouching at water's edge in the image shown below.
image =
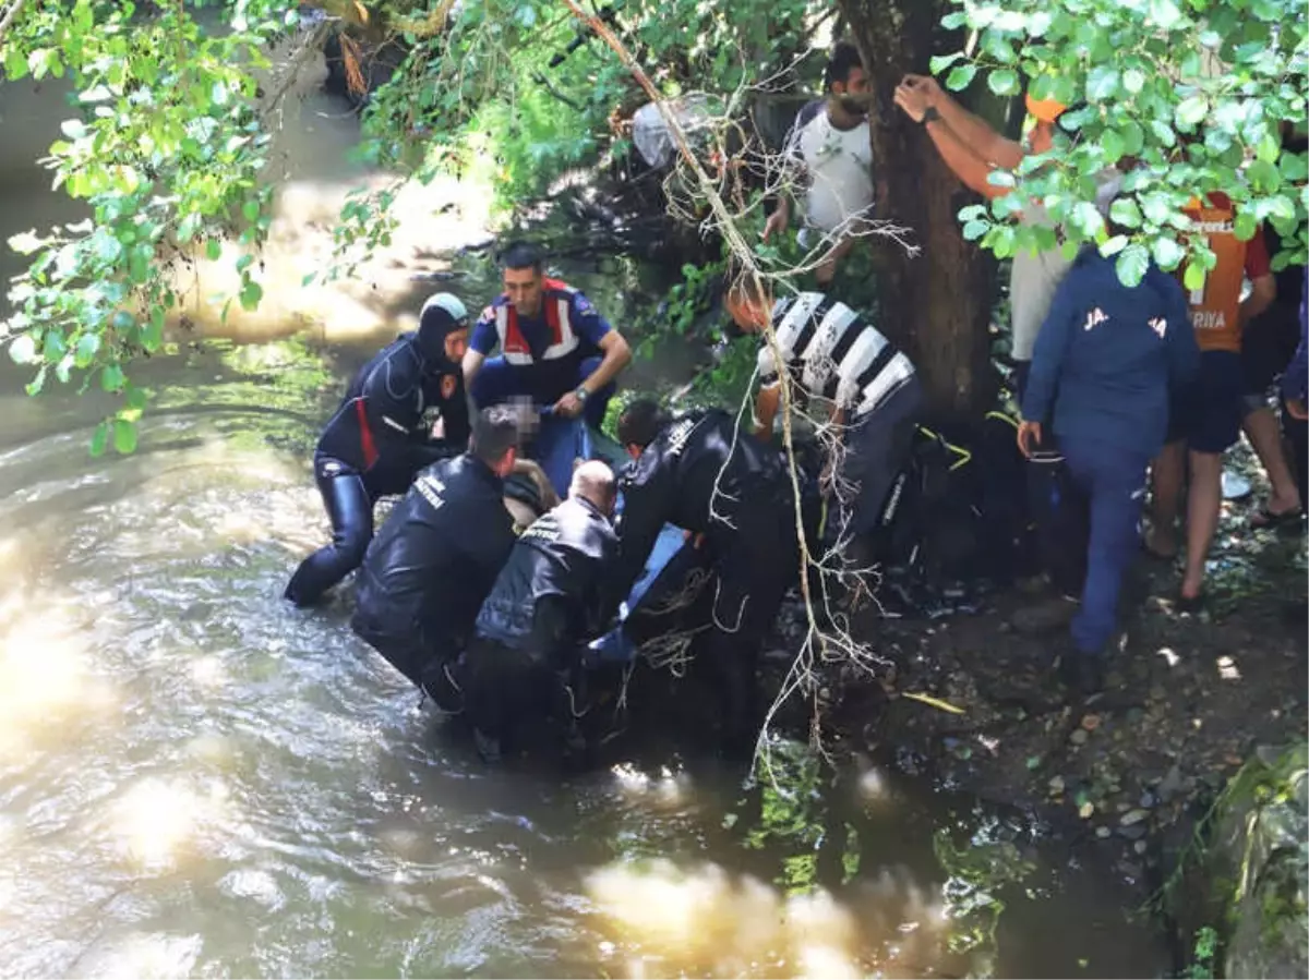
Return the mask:
<path fill-rule="evenodd" d="M 332 543 L 300 564 L 287 599 L 318 602 L 364 560 L 377 500 L 403 493 L 424 466 L 463 451 L 469 406 L 459 361 L 467 345 L 467 310 L 458 297 L 437 293 L 423 305 L 418 331 L 402 334 L 355 376 L 314 451 Z M 441 411 L 439 440 L 423 425 L 431 407 Z"/>

